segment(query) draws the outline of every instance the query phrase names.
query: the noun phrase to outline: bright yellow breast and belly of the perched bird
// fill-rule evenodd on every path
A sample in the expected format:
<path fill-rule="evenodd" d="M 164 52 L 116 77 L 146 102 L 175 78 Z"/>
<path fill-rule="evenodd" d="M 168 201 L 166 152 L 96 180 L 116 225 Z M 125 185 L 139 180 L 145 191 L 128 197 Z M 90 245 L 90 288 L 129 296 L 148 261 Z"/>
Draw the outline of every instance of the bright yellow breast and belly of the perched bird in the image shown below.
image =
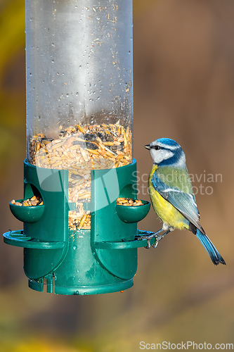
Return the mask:
<path fill-rule="evenodd" d="M 157 165 L 152 166 L 150 171 L 148 188 L 150 193 L 150 199 L 152 202 L 152 207 L 155 210 L 157 216 L 164 222 L 164 224 L 174 227 L 176 229 L 188 229 L 188 224 L 185 222 L 183 215 L 174 206 L 166 201 L 160 194 L 155 190 L 152 185 L 152 175 L 157 170 Z"/>

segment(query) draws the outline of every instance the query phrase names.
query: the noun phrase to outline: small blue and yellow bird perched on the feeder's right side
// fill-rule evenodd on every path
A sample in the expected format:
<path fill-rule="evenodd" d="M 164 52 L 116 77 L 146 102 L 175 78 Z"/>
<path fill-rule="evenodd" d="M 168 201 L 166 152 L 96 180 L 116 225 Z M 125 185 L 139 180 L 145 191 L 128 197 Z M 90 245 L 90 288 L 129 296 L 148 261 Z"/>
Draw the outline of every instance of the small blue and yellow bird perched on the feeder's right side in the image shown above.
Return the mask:
<path fill-rule="evenodd" d="M 148 179 L 152 207 L 162 220 L 162 229 L 141 238 L 155 244 L 172 230 L 190 230 L 200 240 L 212 262 L 226 264 L 200 225 L 200 213 L 186 167 L 186 156 L 181 146 L 173 139 L 160 138 L 145 146 L 150 150 L 153 165 Z M 165 231 L 159 235 L 160 232 Z"/>

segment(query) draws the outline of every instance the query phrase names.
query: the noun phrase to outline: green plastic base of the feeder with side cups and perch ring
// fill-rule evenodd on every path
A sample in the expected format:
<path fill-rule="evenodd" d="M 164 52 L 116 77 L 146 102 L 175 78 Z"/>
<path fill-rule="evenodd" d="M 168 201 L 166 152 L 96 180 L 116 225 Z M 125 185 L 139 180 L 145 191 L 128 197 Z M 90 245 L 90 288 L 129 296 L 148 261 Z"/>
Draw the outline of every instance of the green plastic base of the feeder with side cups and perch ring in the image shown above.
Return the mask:
<path fill-rule="evenodd" d="M 136 161 L 91 171 L 91 230 L 68 230 L 68 171 L 36 168 L 25 161 L 25 198 L 40 195 L 43 208 L 11 206 L 24 229 L 4 234 L 6 244 L 24 248 L 29 287 L 54 294 L 83 295 L 124 291 L 133 286 L 137 249 L 146 246 L 137 222 L 150 203 L 120 208 L 118 197 L 136 199 Z M 125 210 L 123 211 L 123 209 Z M 149 233 L 149 232 L 148 232 Z M 154 239 L 152 239 L 152 242 Z"/>

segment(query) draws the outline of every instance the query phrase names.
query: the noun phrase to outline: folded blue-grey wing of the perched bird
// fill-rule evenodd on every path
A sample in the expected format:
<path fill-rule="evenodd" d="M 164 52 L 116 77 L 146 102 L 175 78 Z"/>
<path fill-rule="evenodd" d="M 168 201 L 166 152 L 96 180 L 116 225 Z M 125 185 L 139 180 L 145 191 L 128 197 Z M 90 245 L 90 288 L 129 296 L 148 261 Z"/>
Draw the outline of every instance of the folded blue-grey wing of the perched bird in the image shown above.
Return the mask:
<path fill-rule="evenodd" d="M 204 232 L 199 224 L 200 214 L 193 194 L 185 193 L 181 191 L 181 189 L 178 189 L 178 187 L 167 185 L 160 180 L 160 177 L 157 176 L 156 172 L 152 175 L 152 185 L 160 196 L 169 201 L 172 206 L 183 214 L 183 216 L 195 225 L 195 227 L 197 227 L 202 233 Z"/>

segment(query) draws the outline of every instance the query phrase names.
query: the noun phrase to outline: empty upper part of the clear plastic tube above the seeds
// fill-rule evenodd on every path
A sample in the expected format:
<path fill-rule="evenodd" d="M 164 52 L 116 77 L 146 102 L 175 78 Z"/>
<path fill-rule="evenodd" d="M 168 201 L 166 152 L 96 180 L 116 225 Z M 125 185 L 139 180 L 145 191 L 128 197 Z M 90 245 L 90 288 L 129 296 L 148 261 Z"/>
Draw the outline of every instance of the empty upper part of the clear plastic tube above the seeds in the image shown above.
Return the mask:
<path fill-rule="evenodd" d="M 26 68 L 28 135 L 131 127 L 131 0 L 26 0 Z"/>

